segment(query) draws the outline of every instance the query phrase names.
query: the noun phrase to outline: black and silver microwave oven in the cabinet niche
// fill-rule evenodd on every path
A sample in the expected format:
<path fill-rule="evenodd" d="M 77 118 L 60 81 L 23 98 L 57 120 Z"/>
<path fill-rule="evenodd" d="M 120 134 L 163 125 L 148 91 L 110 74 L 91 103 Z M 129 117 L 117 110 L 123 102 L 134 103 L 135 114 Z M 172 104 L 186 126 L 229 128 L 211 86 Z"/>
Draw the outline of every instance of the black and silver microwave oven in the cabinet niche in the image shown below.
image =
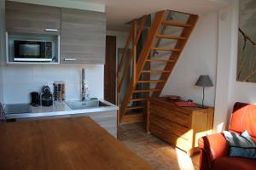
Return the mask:
<path fill-rule="evenodd" d="M 14 61 L 50 62 L 53 60 L 52 46 L 50 41 L 15 40 Z"/>

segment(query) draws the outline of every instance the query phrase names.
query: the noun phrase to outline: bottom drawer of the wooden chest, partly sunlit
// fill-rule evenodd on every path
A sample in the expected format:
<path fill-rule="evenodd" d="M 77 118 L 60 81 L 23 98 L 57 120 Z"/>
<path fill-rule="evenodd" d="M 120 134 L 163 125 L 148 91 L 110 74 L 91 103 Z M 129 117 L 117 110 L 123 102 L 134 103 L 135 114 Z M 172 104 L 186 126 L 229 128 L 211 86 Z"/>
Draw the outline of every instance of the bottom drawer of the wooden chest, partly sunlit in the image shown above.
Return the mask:
<path fill-rule="evenodd" d="M 188 151 L 191 149 L 191 144 L 188 140 L 178 137 L 170 132 L 166 132 L 163 127 L 155 124 L 150 124 L 149 131 L 160 139 L 163 139 L 166 142 L 177 146 L 181 150 Z"/>

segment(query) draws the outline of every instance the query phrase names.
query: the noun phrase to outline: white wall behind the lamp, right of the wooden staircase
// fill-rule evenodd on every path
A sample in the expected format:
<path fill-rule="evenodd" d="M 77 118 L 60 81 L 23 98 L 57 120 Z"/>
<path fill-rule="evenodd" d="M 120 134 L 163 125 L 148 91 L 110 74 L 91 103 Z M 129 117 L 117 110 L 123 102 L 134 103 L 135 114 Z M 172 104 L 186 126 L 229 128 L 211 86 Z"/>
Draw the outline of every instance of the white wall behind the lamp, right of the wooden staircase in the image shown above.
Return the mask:
<path fill-rule="evenodd" d="M 201 15 L 161 95 L 175 94 L 201 103 L 202 88 L 196 87 L 195 82 L 200 75 L 209 75 L 214 87 L 206 88 L 205 104 L 213 106 L 217 45 L 218 13 Z"/>

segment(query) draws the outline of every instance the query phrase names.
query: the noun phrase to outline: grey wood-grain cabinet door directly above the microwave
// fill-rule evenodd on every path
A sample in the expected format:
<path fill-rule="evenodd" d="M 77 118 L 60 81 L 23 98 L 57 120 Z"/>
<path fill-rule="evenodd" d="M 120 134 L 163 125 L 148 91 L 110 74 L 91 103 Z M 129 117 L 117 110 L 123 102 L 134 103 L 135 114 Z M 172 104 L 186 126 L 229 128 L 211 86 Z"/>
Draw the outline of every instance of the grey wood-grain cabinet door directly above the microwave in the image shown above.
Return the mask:
<path fill-rule="evenodd" d="M 60 26 L 61 8 L 6 2 L 6 30 L 9 32 L 58 35 Z"/>

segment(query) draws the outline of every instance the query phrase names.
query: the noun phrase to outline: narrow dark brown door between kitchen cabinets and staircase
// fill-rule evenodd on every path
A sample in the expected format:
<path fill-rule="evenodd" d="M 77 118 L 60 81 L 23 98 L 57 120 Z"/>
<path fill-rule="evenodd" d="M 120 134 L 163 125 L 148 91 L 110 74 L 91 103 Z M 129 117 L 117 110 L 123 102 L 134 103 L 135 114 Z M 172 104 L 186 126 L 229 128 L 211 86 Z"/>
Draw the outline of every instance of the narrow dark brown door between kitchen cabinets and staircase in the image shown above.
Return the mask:
<path fill-rule="evenodd" d="M 116 37 L 106 37 L 106 59 L 104 67 L 104 99 L 115 104 L 116 84 Z"/>

